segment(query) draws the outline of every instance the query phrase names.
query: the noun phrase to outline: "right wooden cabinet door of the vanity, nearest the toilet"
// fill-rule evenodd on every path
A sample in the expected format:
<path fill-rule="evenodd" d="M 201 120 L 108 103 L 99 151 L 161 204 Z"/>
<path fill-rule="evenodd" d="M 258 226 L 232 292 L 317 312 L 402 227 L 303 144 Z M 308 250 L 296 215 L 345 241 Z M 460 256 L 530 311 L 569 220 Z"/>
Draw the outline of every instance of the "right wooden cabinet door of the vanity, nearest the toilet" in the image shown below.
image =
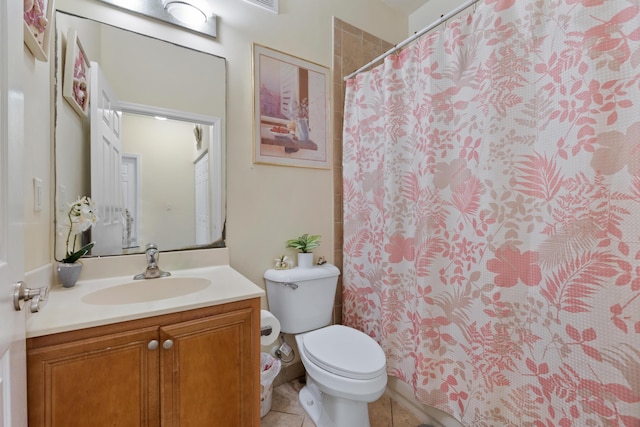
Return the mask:
<path fill-rule="evenodd" d="M 160 328 L 163 426 L 260 425 L 258 312 L 245 308 Z"/>

